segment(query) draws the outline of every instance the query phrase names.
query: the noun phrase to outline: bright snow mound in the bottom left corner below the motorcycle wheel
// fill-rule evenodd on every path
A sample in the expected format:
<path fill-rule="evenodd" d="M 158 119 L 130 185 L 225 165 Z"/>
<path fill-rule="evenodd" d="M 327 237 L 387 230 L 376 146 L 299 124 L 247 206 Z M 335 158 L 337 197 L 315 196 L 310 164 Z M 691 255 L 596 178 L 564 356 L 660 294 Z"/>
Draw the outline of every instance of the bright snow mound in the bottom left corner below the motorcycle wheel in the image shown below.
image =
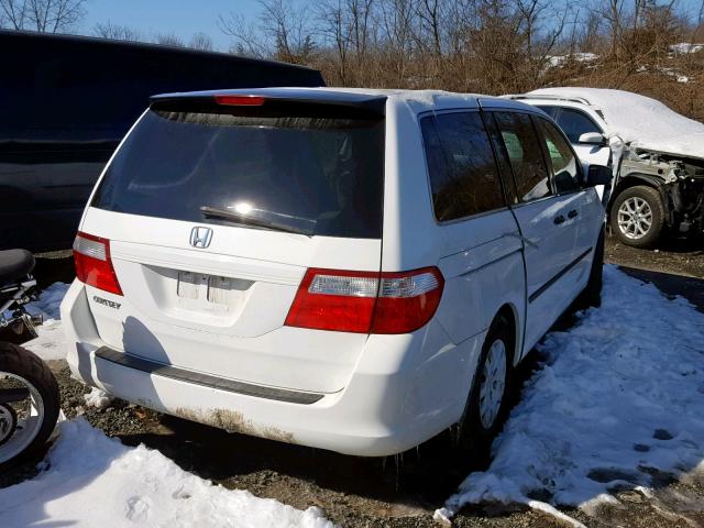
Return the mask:
<path fill-rule="evenodd" d="M 317 508 L 300 512 L 213 485 L 158 451 L 122 446 L 81 418 L 61 424 L 47 465 L 35 479 L 0 490 L 3 528 L 332 527 Z"/>

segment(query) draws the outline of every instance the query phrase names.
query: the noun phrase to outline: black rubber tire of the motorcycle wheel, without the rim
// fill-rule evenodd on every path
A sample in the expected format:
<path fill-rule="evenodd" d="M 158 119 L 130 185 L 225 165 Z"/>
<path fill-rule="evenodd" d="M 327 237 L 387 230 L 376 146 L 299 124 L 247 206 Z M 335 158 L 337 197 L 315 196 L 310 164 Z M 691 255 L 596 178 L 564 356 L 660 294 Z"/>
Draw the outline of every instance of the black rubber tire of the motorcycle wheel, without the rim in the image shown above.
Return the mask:
<path fill-rule="evenodd" d="M 2 372 L 21 376 L 34 386 L 44 405 L 44 421 L 34 440 L 18 457 L 1 463 L 0 470 L 26 459 L 46 443 L 54 431 L 61 408 L 56 378 L 46 363 L 34 353 L 15 344 L 0 342 L 0 373 Z"/>

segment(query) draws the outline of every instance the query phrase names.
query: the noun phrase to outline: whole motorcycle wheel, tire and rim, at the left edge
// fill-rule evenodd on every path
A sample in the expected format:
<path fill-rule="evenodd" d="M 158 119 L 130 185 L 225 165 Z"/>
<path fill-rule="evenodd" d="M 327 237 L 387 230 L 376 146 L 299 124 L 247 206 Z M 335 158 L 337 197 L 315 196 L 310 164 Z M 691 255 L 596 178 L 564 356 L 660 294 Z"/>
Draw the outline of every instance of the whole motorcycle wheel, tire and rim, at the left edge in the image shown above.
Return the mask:
<path fill-rule="evenodd" d="M 58 384 L 46 363 L 0 342 L 0 469 L 44 446 L 58 411 Z"/>

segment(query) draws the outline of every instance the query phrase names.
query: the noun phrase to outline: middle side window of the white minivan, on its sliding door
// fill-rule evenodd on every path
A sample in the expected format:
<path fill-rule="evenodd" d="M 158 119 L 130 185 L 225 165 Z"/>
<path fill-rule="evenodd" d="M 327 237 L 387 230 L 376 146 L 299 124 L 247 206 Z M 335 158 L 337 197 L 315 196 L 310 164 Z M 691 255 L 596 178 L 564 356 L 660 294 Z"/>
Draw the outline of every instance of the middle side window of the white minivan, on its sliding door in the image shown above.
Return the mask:
<path fill-rule="evenodd" d="M 504 147 L 508 154 L 520 201 L 530 201 L 551 194 L 542 148 L 527 113 L 495 112 Z"/>

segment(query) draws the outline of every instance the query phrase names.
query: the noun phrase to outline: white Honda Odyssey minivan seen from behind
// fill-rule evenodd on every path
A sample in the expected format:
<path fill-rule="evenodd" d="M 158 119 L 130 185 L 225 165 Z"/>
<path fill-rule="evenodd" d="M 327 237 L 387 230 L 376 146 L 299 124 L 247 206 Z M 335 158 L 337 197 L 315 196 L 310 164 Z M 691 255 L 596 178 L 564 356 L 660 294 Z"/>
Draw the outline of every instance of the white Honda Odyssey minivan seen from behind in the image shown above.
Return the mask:
<path fill-rule="evenodd" d="M 458 424 L 488 441 L 515 365 L 598 302 L 609 178 L 507 99 L 154 97 L 80 222 L 68 363 L 162 413 L 342 453 Z"/>

